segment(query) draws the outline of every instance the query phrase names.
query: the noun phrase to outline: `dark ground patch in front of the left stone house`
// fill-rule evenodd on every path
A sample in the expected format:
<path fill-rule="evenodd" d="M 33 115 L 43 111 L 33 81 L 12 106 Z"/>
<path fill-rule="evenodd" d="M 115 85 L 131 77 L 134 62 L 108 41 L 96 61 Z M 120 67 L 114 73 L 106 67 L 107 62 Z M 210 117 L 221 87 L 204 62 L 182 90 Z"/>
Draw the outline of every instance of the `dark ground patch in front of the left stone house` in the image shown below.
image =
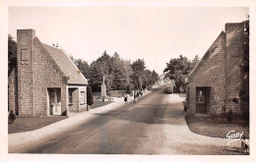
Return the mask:
<path fill-rule="evenodd" d="M 13 124 L 8 124 L 8 134 L 30 132 L 64 119 L 67 117 L 16 118 Z"/>

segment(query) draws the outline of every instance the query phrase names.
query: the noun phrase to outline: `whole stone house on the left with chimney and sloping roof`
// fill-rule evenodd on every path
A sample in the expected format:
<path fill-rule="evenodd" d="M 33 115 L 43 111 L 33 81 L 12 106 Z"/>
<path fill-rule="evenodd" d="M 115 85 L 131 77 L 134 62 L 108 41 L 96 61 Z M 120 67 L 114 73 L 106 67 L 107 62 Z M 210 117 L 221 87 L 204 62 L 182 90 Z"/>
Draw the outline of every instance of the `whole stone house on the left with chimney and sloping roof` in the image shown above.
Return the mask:
<path fill-rule="evenodd" d="M 9 76 L 9 110 L 21 117 L 87 110 L 88 81 L 63 50 L 17 30 L 17 68 Z"/>

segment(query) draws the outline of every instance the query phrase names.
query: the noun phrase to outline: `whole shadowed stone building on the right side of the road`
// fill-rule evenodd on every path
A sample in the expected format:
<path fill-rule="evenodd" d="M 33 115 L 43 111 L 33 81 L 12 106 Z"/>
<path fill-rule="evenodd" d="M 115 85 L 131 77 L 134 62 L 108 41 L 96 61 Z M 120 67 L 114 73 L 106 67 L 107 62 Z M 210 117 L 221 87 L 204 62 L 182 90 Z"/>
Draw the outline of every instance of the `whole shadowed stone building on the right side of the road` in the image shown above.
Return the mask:
<path fill-rule="evenodd" d="M 244 53 L 244 25 L 225 24 L 214 43 L 187 81 L 188 114 L 207 113 L 243 115 L 239 99 L 242 72 L 240 64 Z"/>

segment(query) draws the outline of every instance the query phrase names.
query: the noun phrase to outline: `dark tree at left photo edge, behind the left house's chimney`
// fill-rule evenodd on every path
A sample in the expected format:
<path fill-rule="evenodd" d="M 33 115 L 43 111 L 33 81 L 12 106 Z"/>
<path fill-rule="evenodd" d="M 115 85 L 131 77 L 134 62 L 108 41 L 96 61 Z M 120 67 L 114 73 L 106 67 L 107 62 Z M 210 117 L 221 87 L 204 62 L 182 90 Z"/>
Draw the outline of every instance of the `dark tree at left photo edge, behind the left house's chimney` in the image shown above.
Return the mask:
<path fill-rule="evenodd" d="M 17 43 L 11 34 L 8 34 L 8 76 L 17 66 Z"/>

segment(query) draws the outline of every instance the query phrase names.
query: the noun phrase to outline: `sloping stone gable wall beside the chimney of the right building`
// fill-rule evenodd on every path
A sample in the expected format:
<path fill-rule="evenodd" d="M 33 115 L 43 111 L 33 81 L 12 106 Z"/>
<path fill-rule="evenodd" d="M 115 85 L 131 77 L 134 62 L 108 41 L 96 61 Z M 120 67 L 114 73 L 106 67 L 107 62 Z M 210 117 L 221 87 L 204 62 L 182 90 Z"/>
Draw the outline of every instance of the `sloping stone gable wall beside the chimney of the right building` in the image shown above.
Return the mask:
<path fill-rule="evenodd" d="M 224 64 L 225 33 L 222 31 L 189 77 L 189 82 L 195 83 L 195 87 L 212 86 L 209 113 L 213 115 L 224 113 Z M 195 89 L 190 94 L 196 95 Z"/>

